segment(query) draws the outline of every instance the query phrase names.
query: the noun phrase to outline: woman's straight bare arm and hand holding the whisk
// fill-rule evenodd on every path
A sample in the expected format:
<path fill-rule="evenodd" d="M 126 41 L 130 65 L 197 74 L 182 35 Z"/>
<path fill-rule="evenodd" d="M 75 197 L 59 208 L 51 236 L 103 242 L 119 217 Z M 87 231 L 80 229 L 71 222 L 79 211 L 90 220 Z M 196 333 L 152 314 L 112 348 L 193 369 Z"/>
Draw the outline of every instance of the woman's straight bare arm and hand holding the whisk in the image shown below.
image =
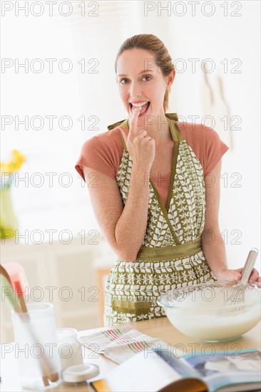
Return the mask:
<path fill-rule="evenodd" d="M 239 280 L 242 267 L 228 269 L 225 254 L 225 244 L 220 234 L 218 212 L 220 205 L 220 172 L 221 160 L 212 170 L 211 175 L 205 176 L 205 226 L 201 236 L 202 248 L 205 258 L 215 277 L 222 280 Z M 257 269 L 253 269 L 249 282 L 260 280 Z"/>

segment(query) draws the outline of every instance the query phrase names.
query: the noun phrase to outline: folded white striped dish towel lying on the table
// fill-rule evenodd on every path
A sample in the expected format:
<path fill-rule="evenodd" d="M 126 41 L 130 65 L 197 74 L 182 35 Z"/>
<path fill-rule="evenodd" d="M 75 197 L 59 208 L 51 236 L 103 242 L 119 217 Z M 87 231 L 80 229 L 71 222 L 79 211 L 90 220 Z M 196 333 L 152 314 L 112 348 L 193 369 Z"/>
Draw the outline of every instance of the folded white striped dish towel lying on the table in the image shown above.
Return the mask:
<path fill-rule="evenodd" d="M 91 335 L 79 336 L 77 340 L 88 349 L 103 354 L 116 363 L 123 363 L 140 351 L 168 349 L 169 346 L 165 341 L 142 334 L 131 326 L 121 326 Z"/>

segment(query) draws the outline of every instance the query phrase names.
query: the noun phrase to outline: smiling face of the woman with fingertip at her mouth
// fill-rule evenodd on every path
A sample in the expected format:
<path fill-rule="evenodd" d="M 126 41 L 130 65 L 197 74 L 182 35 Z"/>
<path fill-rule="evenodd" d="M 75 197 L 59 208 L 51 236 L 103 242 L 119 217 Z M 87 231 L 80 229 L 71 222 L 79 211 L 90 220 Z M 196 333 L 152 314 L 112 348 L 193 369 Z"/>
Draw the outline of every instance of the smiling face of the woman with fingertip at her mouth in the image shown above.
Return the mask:
<path fill-rule="evenodd" d="M 143 49 L 134 48 L 124 51 L 118 58 L 117 83 L 121 100 L 130 118 L 135 103 L 144 103 L 140 109 L 138 125 L 144 125 L 147 116 L 154 117 L 155 120 L 159 115 L 165 116 L 163 109 L 165 89 L 172 84 L 174 75 L 173 71 L 170 76 L 163 76 L 153 54 Z"/>

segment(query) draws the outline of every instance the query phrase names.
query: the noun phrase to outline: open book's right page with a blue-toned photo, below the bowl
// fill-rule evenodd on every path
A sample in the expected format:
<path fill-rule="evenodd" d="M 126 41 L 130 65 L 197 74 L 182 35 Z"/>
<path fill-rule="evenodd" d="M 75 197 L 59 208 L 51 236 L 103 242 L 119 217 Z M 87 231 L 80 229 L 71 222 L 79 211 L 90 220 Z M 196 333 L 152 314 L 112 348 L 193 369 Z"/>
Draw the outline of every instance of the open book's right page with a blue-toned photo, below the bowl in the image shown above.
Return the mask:
<path fill-rule="evenodd" d="M 209 391 L 254 391 L 261 389 L 261 353 L 258 350 L 206 351 L 185 357 L 185 361 L 204 378 Z M 245 383 L 240 386 L 240 383 Z M 242 388 L 241 388 L 242 387 Z"/>

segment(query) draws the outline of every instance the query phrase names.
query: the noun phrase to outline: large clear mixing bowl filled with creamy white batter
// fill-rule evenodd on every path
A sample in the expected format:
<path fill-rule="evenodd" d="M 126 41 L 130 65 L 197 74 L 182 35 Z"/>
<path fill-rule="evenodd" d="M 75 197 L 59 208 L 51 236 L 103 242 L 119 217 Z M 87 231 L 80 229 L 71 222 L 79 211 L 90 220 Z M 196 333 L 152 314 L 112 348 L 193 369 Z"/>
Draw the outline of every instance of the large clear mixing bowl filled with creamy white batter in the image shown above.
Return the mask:
<path fill-rule="evenodd" d="M 173 326 L 201 341 L 228 341 L 250 331 L 260 321 L 261 283 L 247 284 L 245 300 L 235 282 L 207 282 L 161 293 L 163 306 Z M 236 298 L 235 298 L 236 299 Z"/>

